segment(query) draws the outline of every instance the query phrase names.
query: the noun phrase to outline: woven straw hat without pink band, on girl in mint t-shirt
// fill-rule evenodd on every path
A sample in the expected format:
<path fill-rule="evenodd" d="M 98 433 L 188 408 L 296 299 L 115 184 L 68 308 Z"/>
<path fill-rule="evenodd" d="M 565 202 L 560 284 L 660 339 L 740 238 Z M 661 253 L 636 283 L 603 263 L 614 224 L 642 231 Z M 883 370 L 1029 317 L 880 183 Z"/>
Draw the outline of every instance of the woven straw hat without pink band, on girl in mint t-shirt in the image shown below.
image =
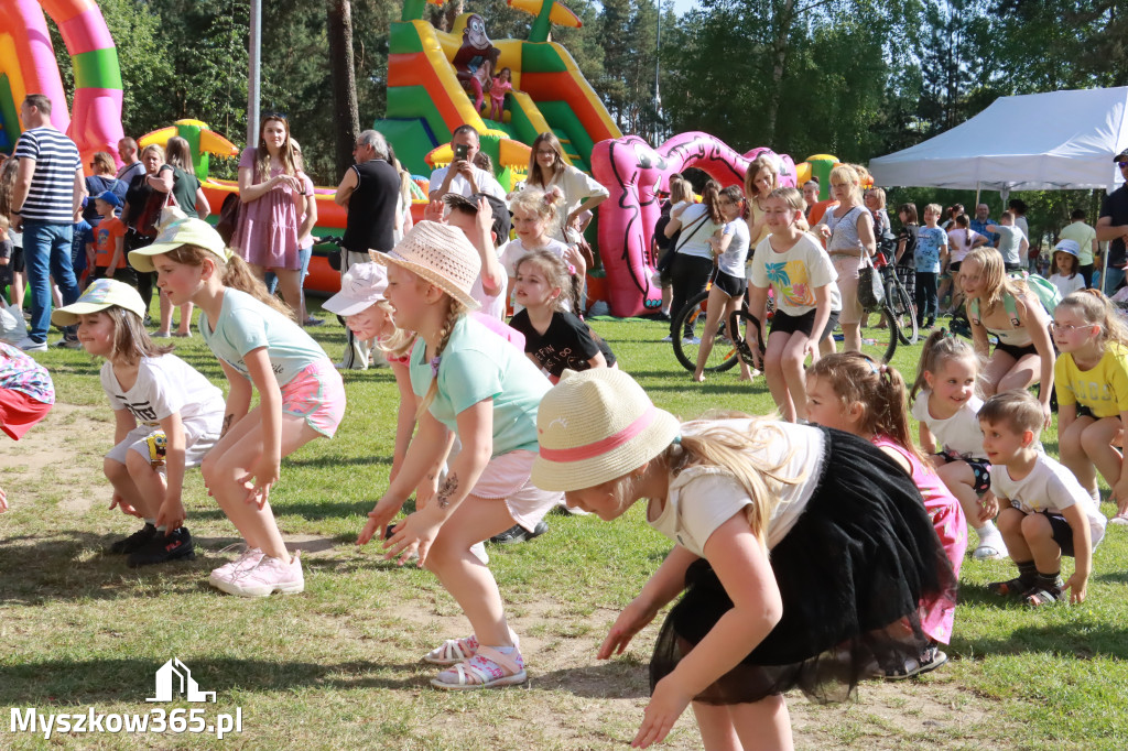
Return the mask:
<path fill-rule="evenodd" d="M 390 253 L 370 255 L 381 266 L 396 265 L 422 276 L 470 310 L 482 307 L 470 297 L 482 258 L 460 229 L 422 221 Z"/>

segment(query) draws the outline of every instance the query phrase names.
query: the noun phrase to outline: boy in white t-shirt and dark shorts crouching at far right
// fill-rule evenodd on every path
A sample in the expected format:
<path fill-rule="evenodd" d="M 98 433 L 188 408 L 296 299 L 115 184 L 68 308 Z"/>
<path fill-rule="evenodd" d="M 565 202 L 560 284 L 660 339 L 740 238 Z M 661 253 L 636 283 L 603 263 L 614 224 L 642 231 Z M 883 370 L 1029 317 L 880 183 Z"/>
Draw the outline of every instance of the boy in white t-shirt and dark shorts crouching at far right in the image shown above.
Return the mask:
<path fill-rule="evenodd" d="M 998 528 L 1019 567 L 1017 577 L 988 589 L 1033 607 L 1064 600 L 1072 590 L 1070 601 L 1079 603 L 1105 520 L 1073 472 L 1038 450 L 1042 414 L 1038 399 L 1017 389 L 993 396 L 979 410 L 984 449 L 992 461 L 987 510 L 994 513 L 1010 504 L 998 514 Z M 1061 556 L 1075 562 L 1065 582 Z"/>

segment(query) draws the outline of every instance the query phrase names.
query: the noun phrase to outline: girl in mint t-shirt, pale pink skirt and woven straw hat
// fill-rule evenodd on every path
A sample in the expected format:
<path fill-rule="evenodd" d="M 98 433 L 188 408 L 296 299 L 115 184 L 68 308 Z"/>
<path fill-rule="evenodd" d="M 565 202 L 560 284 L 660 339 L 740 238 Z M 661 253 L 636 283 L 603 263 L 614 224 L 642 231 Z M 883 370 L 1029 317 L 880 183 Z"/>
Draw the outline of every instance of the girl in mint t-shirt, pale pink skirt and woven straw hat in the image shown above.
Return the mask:
<path fill-rule="evenodd" d="M 474 634 L 449 639 L 423 659 L 450 665 L 431 681 L 441 689 L 521 683 L 525 663 L 505 621 L 490 569 L 470 547 L 514 523 L 530 532 L 561 498 L 529 480 L 537 456 L 537 405 L 549 383 L 504 339 L 466 315 L 477 308 L 470 289 L 481 259 L 461 231 L 416 224 L 388 255 L 387 299 L 396 324 L 418 334 L 408 370 L 421 397 L 418 431 L 396 479 L 358 538 L 382 532 L 412 491 L 446 459 L 452 433 L 461 451 L 433 495 L 385 542 L 389 558 L 418 555 L 458 600 Z M 429 495 L 429 494 L 424 494 Z"/>

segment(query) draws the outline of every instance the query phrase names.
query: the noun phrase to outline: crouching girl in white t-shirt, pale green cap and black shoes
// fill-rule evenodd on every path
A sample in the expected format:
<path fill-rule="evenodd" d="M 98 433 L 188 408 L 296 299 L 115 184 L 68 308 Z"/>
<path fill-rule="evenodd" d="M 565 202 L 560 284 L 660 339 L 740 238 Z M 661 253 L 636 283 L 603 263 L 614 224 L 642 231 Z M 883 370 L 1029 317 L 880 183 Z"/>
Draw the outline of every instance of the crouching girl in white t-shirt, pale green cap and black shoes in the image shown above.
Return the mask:
<path fill-rule="evenodd" d="M 131 567 L 193 559 L 184 527 L 184 470 L 197 467 L 223 423 L 223 395 L 173 347 L 152 343 L 146 304 L 129 284 L 102 279 L 74 303 L 51 316 L 58 326 L 78 324 L 78 338 L 105 357 L 102 387 L 114 410 L 114 448 L 103 469 L 114 486 L 109 507 L 144 519 L 144 527 L 109 546 L 129 555 Z"/>

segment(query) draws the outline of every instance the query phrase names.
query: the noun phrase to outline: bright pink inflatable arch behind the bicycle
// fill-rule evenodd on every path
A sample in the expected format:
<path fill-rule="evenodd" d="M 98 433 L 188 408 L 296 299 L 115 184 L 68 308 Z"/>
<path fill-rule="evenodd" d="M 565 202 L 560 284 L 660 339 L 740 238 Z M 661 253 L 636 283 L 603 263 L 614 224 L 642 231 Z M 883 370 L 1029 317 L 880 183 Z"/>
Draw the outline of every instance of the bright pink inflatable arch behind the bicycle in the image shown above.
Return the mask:
<path fill-rule="evenodd" d="M 740 154 L 707 133 L 681 133 L 658 149 L 636 135 L 596 144 L 591 171 L 611 192 L 599 206 L 599 255 L 613 316 L 654 312 L 661 306 L 662 291 L 650 281 L 656 263 L 650 244 L 661 213 L 656 192 L 668 187 L 670 175 L 696 167 L 722 186 L 740 185 L 761 153 L 776 158 L 781 185 L 795 185 L 791 157 L 763 147 Z"/>

